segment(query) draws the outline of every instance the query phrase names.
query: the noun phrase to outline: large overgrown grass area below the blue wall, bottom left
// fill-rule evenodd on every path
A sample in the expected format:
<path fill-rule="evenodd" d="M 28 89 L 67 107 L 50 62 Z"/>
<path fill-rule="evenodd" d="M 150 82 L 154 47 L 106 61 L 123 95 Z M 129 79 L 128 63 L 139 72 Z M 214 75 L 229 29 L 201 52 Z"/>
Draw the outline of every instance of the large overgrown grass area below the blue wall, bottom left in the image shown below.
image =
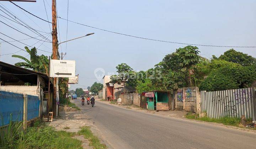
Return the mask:
<path fill-rule="evenodd" d="M 34 127 L 28 127 L 24 132 L 21 127 L 12 129 L 8 136 L 15 136 L 12 139 L 0 138 L 0 148 L 9 149 L 32 149 L 32 148 L 54 148 L 54 149 L 81 149 L 81 141 L 72 138 L 76 133 L 66 131 L 56 131 L 53 127 L 46 126 L 44 123 L 35 122 Z M 19 137 L 16 133 L 19 132 Z M 7 141 L 6 141 L 7 140 Z"/>

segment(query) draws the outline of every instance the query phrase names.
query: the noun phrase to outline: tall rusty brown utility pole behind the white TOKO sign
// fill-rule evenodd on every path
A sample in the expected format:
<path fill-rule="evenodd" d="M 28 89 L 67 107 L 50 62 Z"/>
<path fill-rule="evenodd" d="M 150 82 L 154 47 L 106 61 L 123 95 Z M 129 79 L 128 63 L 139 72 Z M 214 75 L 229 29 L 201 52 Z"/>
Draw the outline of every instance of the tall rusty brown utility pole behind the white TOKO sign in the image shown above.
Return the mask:
<path fill-rule="evenodd" d="M 57 39 L 57 15 L 56 15 L 56 0 L 52 0 L 52 45 L 53 45 L 53 60 L 58 59 L 58 39 Z M 53 115 L 58 116 L 57 100 L 59 99 L 59 78 L 53 78 Z"/>

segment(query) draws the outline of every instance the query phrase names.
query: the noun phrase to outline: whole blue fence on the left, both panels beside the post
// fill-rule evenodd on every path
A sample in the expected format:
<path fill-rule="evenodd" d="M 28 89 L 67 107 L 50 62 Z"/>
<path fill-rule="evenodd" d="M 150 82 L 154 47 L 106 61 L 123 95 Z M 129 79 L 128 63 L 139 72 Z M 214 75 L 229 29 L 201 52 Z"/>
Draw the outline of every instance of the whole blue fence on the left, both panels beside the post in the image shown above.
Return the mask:
<path fill-rule="evenodd" d="M 24 104 L 23 94 L 0 90 L 0 126 L 9 124 L 11 114 L 12 121 L 23 121 Z M 39 104 L 38 96 L 27 95 L 27 121 L 39 117 Z"/>

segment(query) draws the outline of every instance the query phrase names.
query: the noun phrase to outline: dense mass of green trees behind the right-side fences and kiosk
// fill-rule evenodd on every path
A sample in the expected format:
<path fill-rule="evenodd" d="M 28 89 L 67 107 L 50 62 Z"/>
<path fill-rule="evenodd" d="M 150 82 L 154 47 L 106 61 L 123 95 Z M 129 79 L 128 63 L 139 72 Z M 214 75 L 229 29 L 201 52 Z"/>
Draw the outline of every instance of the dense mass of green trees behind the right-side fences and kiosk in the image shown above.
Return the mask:
<path fill-rule="evenodd" d="M 178 48 L 153 68 L 139 72 L 119 64 L 118 75 L 112 75 L 110 83 L 124 83 L 142 93 L 194 86 L 207 91 L 247 88 L 256 80 L 256 59 L 250 55 L 229 49 L 206 59 L 199 53 L 196 46 Z"/>

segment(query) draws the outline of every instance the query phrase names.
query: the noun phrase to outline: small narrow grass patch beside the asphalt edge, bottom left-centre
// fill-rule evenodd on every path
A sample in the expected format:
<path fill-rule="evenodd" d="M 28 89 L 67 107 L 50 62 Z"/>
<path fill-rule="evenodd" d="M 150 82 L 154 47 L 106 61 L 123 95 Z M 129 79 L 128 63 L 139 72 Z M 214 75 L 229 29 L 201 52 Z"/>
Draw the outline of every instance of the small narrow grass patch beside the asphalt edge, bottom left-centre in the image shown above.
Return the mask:
<path fill-rule="evenodd" d="M 91 130 L 90 127 L 84 126 L 81 127 L 81 130 L 78 132 L 79 135 L 84 136 L 85 139 L 88 139 L 90 141 L 90 146 L 93 146 L 95 149 L 106 149 L 106 144 L 101 144 L 100 140 L 97 136 L 95 136 Z"/>

